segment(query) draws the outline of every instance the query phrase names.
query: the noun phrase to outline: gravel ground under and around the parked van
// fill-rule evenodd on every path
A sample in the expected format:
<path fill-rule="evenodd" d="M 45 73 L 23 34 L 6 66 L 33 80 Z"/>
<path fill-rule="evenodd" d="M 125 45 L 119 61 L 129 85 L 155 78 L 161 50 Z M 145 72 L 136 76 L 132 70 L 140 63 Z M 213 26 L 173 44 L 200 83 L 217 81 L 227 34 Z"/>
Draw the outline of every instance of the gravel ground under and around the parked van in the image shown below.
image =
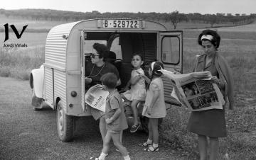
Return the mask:
<path fill-rule="evenodd" d="M 144 132 L 124 132 L 124 146 L 132 159 L 183 159 L 161 144 L 159 152 L 144 152 L 138 144 L 146 138 Z M 100 131 L 91 117 L 77 121 L 72 142 L 61 142 L 55 110 L 33 110 L 28 81 L 0 77 L 0 159 L 90 159 L 97 157 L 101 149 Z M 112 145 L 107 159 L 122 156 Z"/>

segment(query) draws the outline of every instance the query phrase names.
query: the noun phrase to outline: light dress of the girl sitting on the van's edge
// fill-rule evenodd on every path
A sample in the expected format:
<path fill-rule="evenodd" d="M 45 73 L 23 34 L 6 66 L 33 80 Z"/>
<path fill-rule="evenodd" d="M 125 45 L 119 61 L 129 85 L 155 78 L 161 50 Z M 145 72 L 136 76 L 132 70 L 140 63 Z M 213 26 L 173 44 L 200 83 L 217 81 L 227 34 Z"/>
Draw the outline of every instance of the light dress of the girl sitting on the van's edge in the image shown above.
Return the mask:
<path fill-rule="evenodd" d="M 137 70 L 132 70 L 131 79 L 133 79 L 135 76 L 138 76 L 139 74 L 144 75 L 144 71 L 142 68 Z M 143 78 L 139 79 L 139 81 L 137 81 L 136 84 L 131 85 L 131 88 L 122 94 L 129 101 L 133 101 L 133 100 L 144 101 L 146 98 L 145 79 Z"/>

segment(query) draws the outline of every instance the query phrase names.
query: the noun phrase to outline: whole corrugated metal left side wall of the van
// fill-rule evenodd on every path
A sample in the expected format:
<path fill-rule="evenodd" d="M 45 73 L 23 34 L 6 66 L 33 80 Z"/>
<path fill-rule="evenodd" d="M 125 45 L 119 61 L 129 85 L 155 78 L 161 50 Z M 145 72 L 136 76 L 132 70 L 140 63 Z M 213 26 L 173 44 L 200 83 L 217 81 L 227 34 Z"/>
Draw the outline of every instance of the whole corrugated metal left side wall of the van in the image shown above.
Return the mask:
<path fill-rule="evenodd" d="M 46 39 L 46 100 L 52 108 L 56 108 L 56 98 L 60 98 L 63 108 L 66 108 L 66 48 L 68 40 L 63 35 L 70 33 L 68 25 L 58 25 L 52 28 Z M 54 91 L 53 91 L 54 90 Z M 46 103 L 48 103 L 46 101 Z M 49 104 L 48 103 L 48 104 Z M 66 110 L 65 110 L 66 113 Z"/>

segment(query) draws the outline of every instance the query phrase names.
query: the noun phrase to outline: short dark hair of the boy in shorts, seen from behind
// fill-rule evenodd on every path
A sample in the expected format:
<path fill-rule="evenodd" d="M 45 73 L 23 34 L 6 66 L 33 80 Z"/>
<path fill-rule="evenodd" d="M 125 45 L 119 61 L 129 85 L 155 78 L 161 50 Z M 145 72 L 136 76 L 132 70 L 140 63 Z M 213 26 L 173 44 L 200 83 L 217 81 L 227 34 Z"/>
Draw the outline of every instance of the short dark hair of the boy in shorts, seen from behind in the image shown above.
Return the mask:
<path fill-rule="evenodd" d="M 117 86 L 117 75 L 114 73 L 107 73 L 103 74 L 103 76 L 100 78 L 100 81 L 102 81 L 102 84 L 107 86 L 107 88 L 115 88 Z"/>

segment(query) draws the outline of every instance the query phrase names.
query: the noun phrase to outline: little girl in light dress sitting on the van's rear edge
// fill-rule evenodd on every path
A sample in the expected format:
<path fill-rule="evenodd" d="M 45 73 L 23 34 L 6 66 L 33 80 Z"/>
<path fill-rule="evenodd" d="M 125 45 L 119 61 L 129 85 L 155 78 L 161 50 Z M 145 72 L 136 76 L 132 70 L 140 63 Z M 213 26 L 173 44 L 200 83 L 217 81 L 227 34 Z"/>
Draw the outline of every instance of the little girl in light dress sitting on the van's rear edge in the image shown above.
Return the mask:
<path fill-rule="evenodd" d="M 146 98 L 145 78 L 144 71 L 142 69 L 143 63 L 142 55 L 134 53 L 131 62 L 133 67 L 131 79 L 124 88 L 124 90 L 127 91 L 122 93 L 122 98 L 124 98 L 124 100 L 132 101 L 131 107 L 134 115 L 134 125 L 132 125 L 130 132 L 136 132 L 140 127 L 138 122 L 137 104 L 139 101 L 144 101 Z M 131 86 L 131 88 L 128 90 L 129 86 Z"/>

